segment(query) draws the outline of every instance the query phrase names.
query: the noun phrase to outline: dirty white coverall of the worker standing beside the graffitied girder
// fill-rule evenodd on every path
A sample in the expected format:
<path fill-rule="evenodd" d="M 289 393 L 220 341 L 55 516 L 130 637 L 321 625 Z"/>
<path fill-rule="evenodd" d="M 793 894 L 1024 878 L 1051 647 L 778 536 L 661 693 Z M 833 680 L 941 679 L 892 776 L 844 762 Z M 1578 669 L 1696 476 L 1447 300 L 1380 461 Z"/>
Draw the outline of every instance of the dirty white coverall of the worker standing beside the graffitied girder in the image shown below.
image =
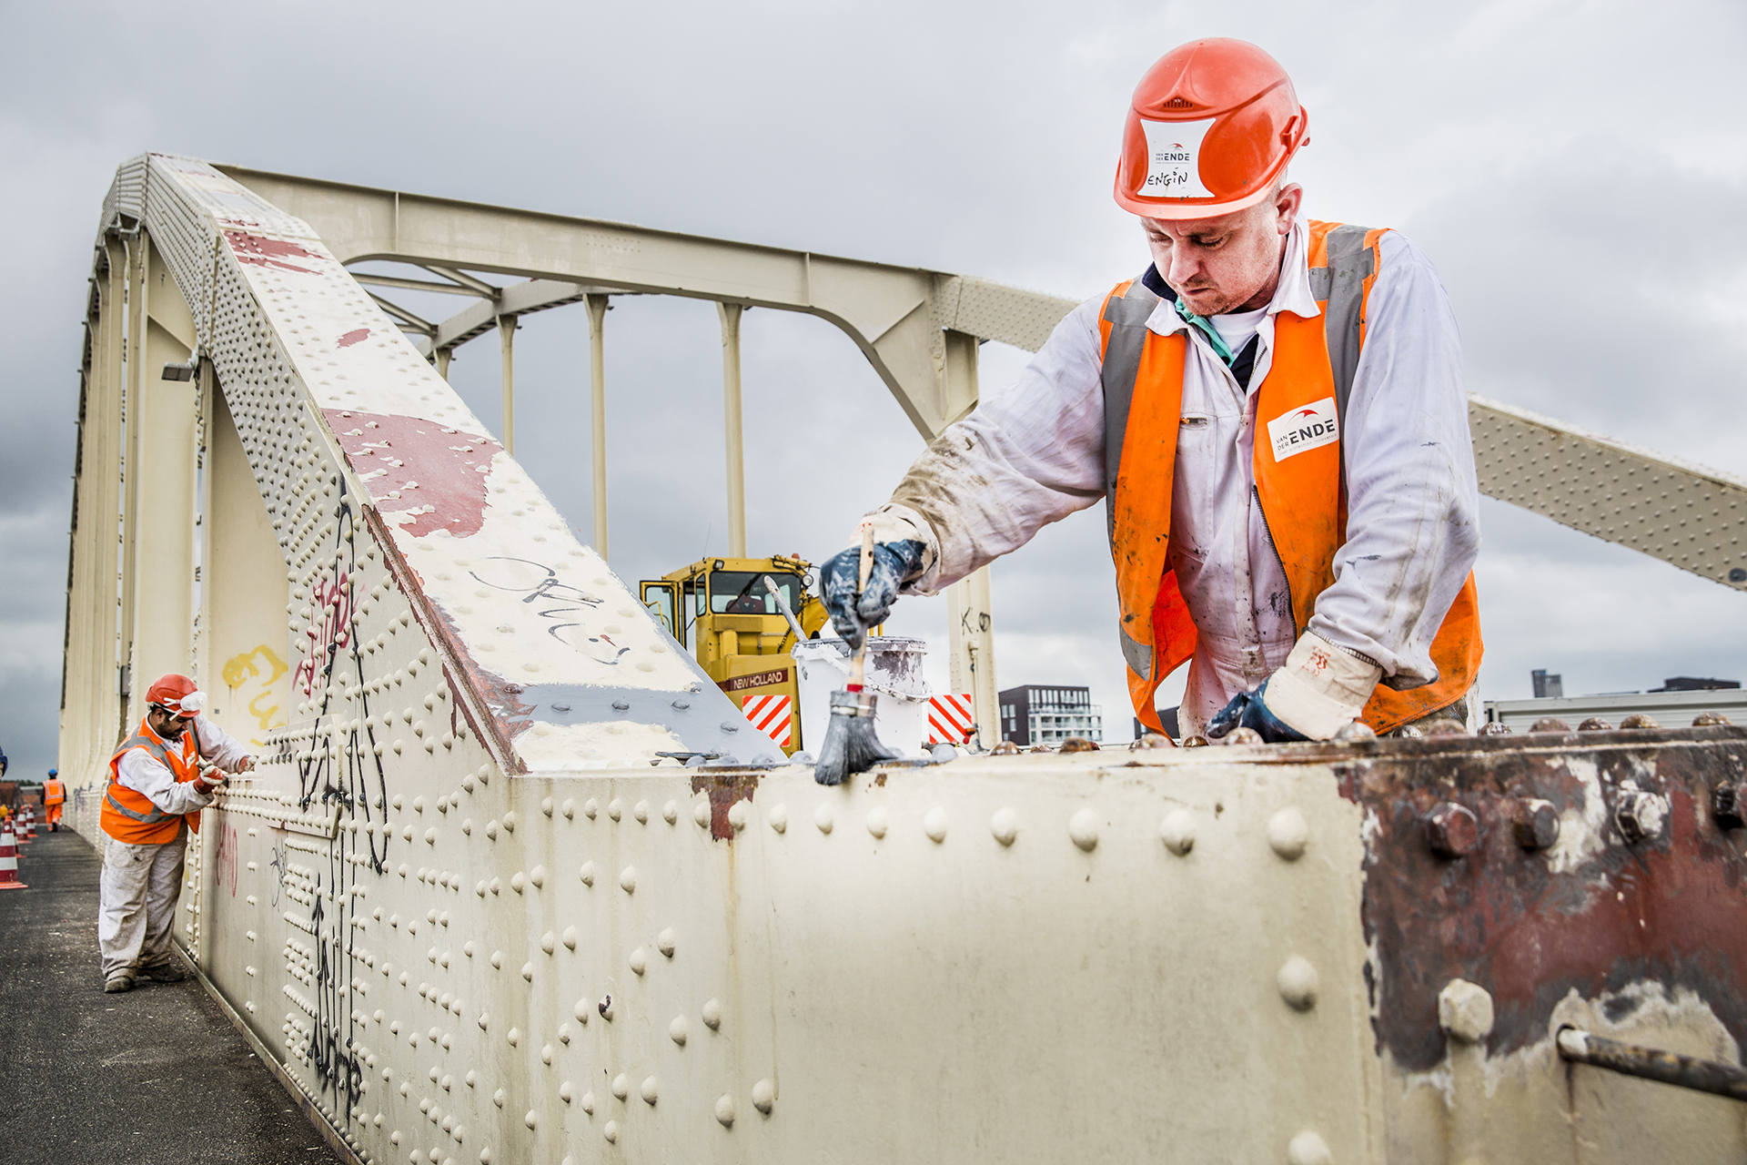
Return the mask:
<path fill-rule="evenodd" d="M 187 732 L 194 734 L 201 756 L 231 770 L 248 751 L 224 728 L 196 716 Z M 180 748 L 180 742 L 168 742 Z M 211 793 L 201 793 L 192 781 L 176 776 L 143 749 L 129 749 L 117 765 L 121 782 L 143 793 L 164 814 L 189 814 L 211 805 Z M 187 854 L 187 823 L 176 840 L 159 845 L 128 845 L 103 838 L 103 879 L 98 886 L 98 947 L 103 952 L 103 982 L 117 975 L 138 976 L 147 968 L 171 962 L 169 934 L 182 896 L 182 861 Z"/>

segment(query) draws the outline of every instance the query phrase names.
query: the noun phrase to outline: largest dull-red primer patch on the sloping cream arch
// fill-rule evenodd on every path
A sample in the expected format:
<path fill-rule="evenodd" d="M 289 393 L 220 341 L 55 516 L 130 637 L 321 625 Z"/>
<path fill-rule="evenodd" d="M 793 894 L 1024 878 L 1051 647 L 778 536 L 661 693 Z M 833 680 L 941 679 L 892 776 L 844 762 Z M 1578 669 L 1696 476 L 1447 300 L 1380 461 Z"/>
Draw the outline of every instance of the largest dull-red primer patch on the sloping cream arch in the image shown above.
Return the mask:
<path fill-rule="evenodd" d="M 486 520 L 486 477 L 503 445 L 425 417 L 341 409 L 325 409 L 323 416 L 376 508 L 384 515 L 414 514 L 400 529 L 414 538 L 438 529 L 456 538 L 479 533 Z M 390 496 L 397 493 L 398 498 Z"/>

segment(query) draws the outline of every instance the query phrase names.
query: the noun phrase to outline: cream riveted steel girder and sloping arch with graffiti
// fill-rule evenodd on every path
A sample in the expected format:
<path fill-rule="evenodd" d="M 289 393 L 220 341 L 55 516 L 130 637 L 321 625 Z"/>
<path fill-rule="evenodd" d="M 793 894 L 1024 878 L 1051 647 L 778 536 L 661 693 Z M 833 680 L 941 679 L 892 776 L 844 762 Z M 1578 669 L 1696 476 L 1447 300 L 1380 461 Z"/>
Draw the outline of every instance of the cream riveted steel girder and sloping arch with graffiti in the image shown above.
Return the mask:
<path fill-rule="evenodd" d="M 180 297 L 218 389 L 196 398 L 206 501 L 168 494 L 210 529 L 197 679 L 227 730 L 253 716 L 264 739 L 189 851 L 178 941 L 360 1160 L 1303 1165 L 1527 1146 L 1516 1160 L 1588 1163 L 1642 1160 L 1642 1130 L 1675 1130 L 1670 1162 L 1747 1155 L 1726 1102 L 1649 1113 L 1635 1081 L 1572 1083 L 1551 1032 L 1488 1058 L 1452 1024 L 1433 1072 L 1378 1051 L 1378 823 L 1343 795 L 1368 760 L 975 758 L 826 789 L 807 769 L 655 758 L 749 758 L 749 725 L 697 725 L 727 720 L 715 685 L 306 224 L 150 155 L 117 175 L 103 225 L 70 817 L 94 837 L 136 651 L 117 643 L 129 271 L 110 229 L 143 229 L 168 272 L 147 318 Z M 479 524 L 461 536 L 452 515 Z M 540 569 L 491 566 L 510 559 Z M 162 569 L 192 582 L 192 555 Z M 557 639 L 557 608 L 587 638 Z M 968 643 L 987 634 L 985 590 L 954 611 Z M 580 646 L 603 638 L 627 671 Z M 964 665 L 985 683 L 980 655 Z M 1619 1024 L 1560 1008 L 1738 1051 L 1684 996 Z"/>

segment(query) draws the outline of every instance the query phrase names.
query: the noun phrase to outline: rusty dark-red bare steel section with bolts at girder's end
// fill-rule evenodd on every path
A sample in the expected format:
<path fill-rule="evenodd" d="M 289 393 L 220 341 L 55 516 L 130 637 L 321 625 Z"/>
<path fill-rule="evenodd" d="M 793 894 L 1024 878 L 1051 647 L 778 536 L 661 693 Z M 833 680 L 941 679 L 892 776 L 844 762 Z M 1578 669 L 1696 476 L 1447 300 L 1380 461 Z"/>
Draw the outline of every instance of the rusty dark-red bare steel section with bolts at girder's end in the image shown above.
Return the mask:
<path fill-rule="evenodd" d="M 1747 1041 L 1747 863 L 1712 812 L 1714 791 L 1744 769 L 1747 730 L 1733 727 L 1345 749 L 1342 793 L 1368 810 L 1378 1051 L 1433 1069 L 1445 1055 L 1438 992 L 1455 978 L 1495 1001 L 1490 1055 L 1548 1039 L 1571 992 L 1604 1001 L 1618 1022 L 1642 999 L 1626 989 L 1646 983 L 1696 994 Z M 1532 802 L 1558 814 L 1544 849 L 1520 840 L 1525 812 L 1539 809 L 1550 831 Z M 1460 856 L 1438 844 L 1452 807 L 1478 823 Z"/>

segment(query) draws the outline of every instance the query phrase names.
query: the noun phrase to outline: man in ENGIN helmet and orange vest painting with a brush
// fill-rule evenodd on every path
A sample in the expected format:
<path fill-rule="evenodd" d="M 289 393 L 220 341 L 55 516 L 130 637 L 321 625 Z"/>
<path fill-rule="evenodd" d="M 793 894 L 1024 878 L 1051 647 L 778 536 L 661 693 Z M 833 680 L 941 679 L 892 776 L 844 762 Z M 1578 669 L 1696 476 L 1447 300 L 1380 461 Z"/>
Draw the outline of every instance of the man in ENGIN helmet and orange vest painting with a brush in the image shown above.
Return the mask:
<path fill-rule="evenodd" d="M 1291 79 L 1197 40 L 1141 79 L 1116 168 L 1151 264 L 1057 325 L 821 571 L 846 639 L 1099 498 L 1134 714 L 1184 739 L 1474 727 L 1478 491 L 1455 316 L 1398 231 L 1310 220 Z M 1233 741 L 1254 741 L 1240 732 Z"/>

